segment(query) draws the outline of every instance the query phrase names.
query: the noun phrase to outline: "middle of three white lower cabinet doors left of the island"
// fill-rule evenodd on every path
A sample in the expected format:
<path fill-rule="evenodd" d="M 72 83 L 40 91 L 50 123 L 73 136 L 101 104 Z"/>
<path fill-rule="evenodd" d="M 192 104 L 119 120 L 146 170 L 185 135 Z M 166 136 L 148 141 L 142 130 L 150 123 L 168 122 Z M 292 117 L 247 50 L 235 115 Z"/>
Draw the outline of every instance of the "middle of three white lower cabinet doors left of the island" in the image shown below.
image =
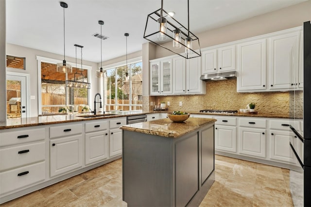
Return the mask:
<path fill-rule="evenodd" d="M 86 165 L 108 158 L 108 130 L 86 133 Z"/>

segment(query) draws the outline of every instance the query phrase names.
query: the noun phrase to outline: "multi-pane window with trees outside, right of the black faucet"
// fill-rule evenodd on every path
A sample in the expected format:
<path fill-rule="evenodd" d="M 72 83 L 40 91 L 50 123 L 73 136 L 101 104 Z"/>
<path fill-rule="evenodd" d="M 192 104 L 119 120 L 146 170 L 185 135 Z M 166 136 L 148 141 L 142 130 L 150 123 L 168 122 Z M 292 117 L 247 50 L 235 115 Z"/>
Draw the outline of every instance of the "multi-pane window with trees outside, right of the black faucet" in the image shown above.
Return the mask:
<path fill-rule="evenodd" d="M 142 110 L 142 62 L 106 69 L 105 111 Z"/>

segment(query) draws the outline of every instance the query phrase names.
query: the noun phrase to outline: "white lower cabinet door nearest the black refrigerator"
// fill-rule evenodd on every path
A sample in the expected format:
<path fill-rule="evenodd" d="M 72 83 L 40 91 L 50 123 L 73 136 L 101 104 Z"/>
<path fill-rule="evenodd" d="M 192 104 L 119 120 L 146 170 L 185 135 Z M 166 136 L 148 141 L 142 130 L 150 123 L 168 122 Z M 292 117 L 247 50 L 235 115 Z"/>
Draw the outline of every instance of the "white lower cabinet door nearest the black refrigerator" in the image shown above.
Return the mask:
<path fill-rule="evenodd" d="M 290 142 L 294 144 L 294 146 L 296 145 L 297 138 L 295 138 L 294 133 L 277 130 L 271 130 L 270 133 L 270 158 L 297 164 L 297 159 L 289 145 Z"/>

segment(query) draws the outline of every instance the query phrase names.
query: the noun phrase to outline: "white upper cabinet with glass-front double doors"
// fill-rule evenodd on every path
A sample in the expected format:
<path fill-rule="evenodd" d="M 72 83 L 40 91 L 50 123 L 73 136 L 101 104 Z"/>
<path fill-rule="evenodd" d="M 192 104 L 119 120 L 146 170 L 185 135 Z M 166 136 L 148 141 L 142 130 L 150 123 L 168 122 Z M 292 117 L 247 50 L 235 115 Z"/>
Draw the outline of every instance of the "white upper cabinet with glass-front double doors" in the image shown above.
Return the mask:
<path fill-rule="evenodd" d="M 172 58 L 150 62 L 150 95 L 172 94 Z"/>

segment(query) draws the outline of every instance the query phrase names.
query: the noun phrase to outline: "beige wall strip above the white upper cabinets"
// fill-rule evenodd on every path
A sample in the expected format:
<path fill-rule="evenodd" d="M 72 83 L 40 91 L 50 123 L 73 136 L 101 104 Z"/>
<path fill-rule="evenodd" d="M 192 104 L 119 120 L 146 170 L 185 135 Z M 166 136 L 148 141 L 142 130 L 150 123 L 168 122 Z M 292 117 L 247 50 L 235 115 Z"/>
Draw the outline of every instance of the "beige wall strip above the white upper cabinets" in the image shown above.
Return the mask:
<path fill-rule="evenodd" d="M 308 0 L 274 12 L 195 35 L 199 37 L 202 49 L 226 42 L 302 26 L 303 22 L 310 20 L 311 0 Z M 161 47 L 156 47 L 155 53 L 155 58 L 173 55 L 173 52 Z"/>

